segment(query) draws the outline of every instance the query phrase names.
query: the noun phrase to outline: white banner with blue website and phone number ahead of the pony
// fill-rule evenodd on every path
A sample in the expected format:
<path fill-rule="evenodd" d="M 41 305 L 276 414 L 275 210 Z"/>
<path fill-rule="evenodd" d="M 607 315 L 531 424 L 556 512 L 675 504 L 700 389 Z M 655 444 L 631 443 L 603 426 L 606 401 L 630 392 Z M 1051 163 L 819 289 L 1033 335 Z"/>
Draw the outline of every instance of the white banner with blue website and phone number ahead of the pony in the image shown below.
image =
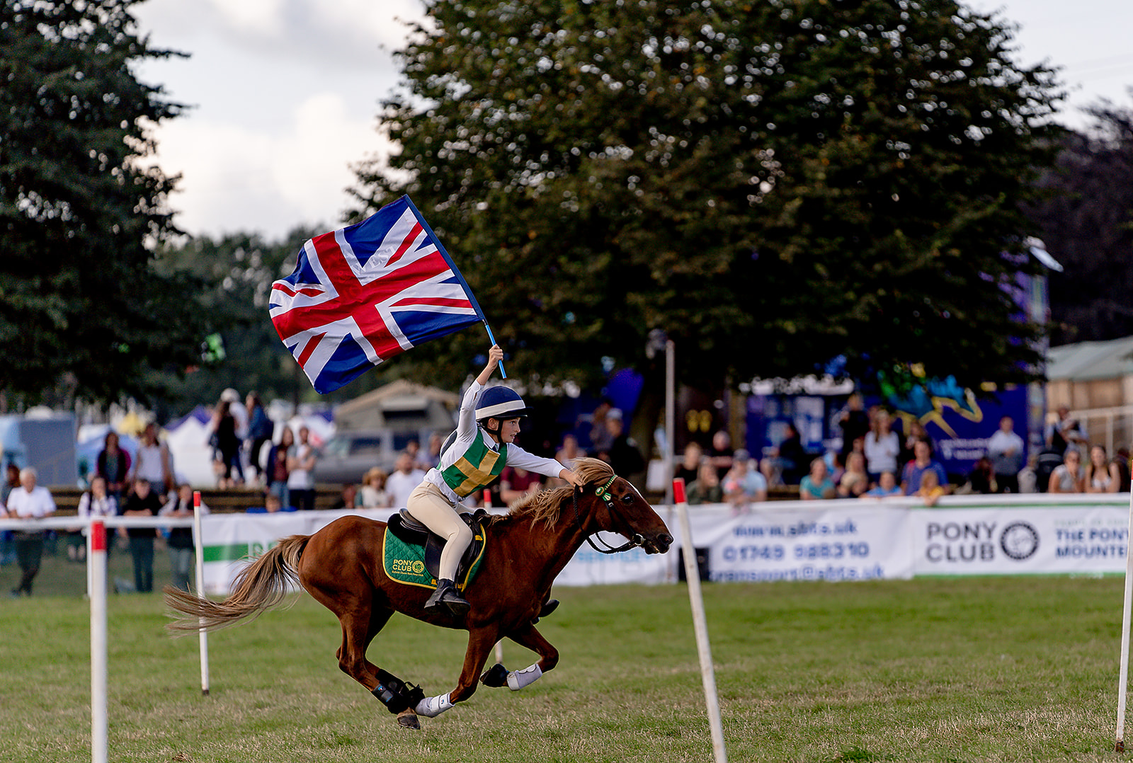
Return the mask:
<path fill-rule="evenodd" d="M 708 549 L 713 581 L 852 581 L 911 577 L 909 512 L 864 500 L 689 509 L 696 548 Z"/>

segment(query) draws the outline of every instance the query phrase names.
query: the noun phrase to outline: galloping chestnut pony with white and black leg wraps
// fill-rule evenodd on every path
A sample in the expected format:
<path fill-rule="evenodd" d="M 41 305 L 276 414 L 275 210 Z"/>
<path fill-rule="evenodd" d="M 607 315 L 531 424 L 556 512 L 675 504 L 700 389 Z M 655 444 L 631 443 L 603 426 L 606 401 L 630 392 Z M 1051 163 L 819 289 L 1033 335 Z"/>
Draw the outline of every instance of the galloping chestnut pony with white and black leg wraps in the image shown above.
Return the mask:
<path fill-rule="evenodd" d="M 385 523 L 347 515 L 313 535 L 281 540 L 239 573 L 224 601 L 167 586 L 165 601 L 184 615 L 169 628 L 191 633 L 231 625 L 281 603 L 298 584 L 342 624 L 339 667 L 397 713 L 402 726 L 419 728 L 418 714 L 435 717 L 467 700 L 476 692 L 477 679 L 486 686 L 522 688 L 559 662 L 557 650 L 535 623 L 555 576 L 583 542 L 593 545 L 591 534 L 605 530 L 630 539 L 606 552 L 640 546 L 647 554 L 663 554 L 673 542 L 648 501 L 607 463 L 579 458 L 574 469 L 586 481 L 585 488 L 543 490 L 513 504 L 508 514 L 485 518 L 487 550 L 465 592 L 471 605 L 465 616 L 443 607 L 423 609 L 432 591 L 392 581 L 382 567 Z M 468 631 L 468 650 L 454 689 L 426 697 L 420 688 L 366 659 L 367 646 L 393 612 Z M 504 636 L 536 652 L 539 661 L 510 672 L 496 665 L 482 675 L 488 653 Z"/>

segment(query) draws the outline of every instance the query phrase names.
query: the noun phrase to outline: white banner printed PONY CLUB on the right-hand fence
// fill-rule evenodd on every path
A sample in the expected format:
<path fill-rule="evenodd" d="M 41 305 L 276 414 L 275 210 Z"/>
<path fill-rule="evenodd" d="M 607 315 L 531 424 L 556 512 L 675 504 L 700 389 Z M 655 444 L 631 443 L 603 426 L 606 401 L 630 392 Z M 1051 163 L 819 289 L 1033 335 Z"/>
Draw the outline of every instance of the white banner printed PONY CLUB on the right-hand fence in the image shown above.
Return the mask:
<path fill-rule="evenodd" d="M 1043 496 L 1043 498 L 1046 498 Z M 913 507 L 917 575 L 1124 573 L 1128 494 Z M 963 499 L 954 499 L 961 504 Z M 972 501 L 971 498 L 966 499 Z M 951 501 L 949 501 L 951 503 Z"/>

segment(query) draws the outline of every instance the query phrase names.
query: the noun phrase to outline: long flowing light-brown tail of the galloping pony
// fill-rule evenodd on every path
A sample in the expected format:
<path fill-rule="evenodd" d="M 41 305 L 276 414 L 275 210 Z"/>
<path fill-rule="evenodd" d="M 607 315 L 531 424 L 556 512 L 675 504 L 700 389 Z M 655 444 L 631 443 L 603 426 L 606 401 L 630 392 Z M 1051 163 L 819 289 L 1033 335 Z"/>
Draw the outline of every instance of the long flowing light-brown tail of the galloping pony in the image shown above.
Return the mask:
<path fill-rule="evenodd" d="M 300 588 L 299 555 L 310 535 L 291 535 L 240 571 L 232 581 L 232 593 L 224 601 L 213 601 L 167 585 L 165 603 L 182 617 L 165 625 L 174 635 L 215 631 L 258 617 L 275 607 L 291 586 Z"/>

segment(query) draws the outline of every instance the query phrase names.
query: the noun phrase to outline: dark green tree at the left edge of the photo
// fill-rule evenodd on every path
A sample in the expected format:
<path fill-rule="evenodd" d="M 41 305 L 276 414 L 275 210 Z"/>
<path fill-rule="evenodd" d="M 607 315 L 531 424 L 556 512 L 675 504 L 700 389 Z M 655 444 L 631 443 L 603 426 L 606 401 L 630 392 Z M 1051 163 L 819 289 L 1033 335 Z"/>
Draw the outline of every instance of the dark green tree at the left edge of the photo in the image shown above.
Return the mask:
<path fill-rule="evenodd" d="M 65 379 L 94 401 L 154 392 L 151 368 L 197 362 L 199 282 L 155 268 L 173 179 L 148 130 L 180 108 L 134 70 L 171 55 L 136 0 L 0 3 L 0 391 Z"/>

